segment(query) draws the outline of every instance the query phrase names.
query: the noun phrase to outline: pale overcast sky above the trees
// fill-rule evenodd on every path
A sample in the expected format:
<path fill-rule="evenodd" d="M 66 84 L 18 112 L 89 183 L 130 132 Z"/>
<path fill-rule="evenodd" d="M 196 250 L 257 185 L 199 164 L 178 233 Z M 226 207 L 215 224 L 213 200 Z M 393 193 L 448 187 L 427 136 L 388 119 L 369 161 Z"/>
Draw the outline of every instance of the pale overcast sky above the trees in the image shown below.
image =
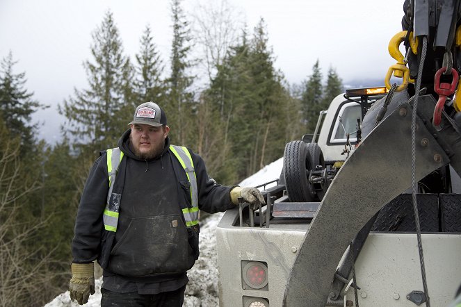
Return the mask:
<path fill-rule="evenodd" d="M 184 0 L 186 15 L 197 14 L 210 1 Z M 250 33 L 264 18 L 274 66 L 286 81 L 300 84 L 319 61 L 323 74 L 336 69 L 343 83 L 384 80 L 396 63 L 387 45 L 401 31 L 403 0 L 227 0 L 236 24 Z M 168 67 L 172 42 L 170 0 L 0 0 L 0 58 L 11 51 L 15 73 L 26 72 L 26 88 L 51 108 L 34 119 L 45 125 L 39 138 L 49 142 L 59 135 L 57 106 L 88 88 L 83 67 L 92 61 L 92 32 L 110 10 L 119 29 L 124 52 L 132 59 L 145 26 Z M 198 53 L 197 53 L 198 54 Z"/>

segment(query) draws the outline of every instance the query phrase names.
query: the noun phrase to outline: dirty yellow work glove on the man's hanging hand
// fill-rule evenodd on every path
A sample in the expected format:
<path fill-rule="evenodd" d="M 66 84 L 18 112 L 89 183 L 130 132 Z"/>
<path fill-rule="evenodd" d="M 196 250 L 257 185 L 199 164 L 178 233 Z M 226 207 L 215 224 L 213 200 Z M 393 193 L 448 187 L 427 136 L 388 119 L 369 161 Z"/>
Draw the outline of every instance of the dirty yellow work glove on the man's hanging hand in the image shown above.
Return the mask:
<path fill-rule="evenodd" d="M 95 294 L 95 265 L 93 263 L 72 263 L 72 279 L 69 283 L 70 300 L 79 305 L 86 304 L 90 294 Z"/>

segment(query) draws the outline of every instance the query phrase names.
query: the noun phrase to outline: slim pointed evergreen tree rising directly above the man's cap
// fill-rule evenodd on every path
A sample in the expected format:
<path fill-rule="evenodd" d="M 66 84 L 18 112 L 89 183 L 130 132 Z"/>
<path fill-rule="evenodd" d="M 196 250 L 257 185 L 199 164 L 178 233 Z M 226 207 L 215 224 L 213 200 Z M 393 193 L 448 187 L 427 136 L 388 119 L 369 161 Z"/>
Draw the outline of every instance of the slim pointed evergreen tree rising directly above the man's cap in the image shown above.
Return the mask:
<path fill-rule="evenodd" d="M 164 67 L 152 40 L 150 27 L 146 26 L 140 39 L 140 51 L 136 54 L 136 105 L 146 101 L 154 101 L 161 106 L 165 104 L 166 88 L 161 79 Z"/>

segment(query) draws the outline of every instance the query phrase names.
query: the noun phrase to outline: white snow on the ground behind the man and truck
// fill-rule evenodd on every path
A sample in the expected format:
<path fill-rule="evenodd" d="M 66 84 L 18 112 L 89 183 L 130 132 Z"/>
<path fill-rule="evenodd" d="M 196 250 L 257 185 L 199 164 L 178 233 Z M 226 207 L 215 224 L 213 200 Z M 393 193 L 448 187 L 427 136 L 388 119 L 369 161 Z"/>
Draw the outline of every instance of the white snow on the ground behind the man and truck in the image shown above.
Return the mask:
<path fill-rule="evenodd" d="M 274 181 L 282 171 L 283 158 L 276 160 L 259 170 L 247 179 L 241 181 L 242 187 L 262 185 Z M 273 183 L 272 185 L 275 185 Z M 267 187 L 270 187 L 268 185 Z M 266 188 L 267 188 L 266 187 Z M 216 259 L 216 226 L 223 213 L 216 213 L 200 222 L 200 257 L 195 265 L 188 271 L 190 279 L 184 296 L 184 307 L 215 307 L 219 306 L 218 300 L 218 263 Z M 101 306 L 102 278 L 95 280 L 96 293 L 90 296 L 84 306 Z M 76 301 L 70 301 L 69 291 L 59 294 L 45 307 L 79 306 Z"/>

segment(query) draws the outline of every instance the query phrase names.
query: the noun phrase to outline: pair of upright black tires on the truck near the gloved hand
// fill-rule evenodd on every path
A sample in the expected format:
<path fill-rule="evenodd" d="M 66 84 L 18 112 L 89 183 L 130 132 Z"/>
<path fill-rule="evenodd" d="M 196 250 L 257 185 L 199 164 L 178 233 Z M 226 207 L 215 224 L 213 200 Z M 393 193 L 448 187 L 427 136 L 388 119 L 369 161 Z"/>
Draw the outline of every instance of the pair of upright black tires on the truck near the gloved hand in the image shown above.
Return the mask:
<path fill-rule="evenodd" d="M 283 169 L 286 192 L 290 201 L 319 201 L 323 191 L 316 192 L 309 182 L 309 173 L 316 165 L 325 167 L 323 154 L 316 143 L 289 142 L 285 146 Z"/>

